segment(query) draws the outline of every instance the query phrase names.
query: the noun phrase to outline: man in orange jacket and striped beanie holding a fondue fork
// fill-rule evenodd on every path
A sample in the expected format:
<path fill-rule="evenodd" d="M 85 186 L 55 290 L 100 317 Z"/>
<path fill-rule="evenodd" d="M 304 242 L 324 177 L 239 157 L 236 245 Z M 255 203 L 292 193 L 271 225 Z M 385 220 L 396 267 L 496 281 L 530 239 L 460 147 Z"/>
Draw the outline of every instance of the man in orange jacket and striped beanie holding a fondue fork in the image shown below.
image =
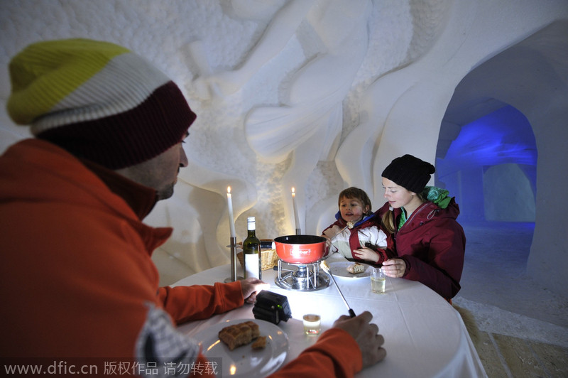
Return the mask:
<path fill-rule="evenodd" d="M 9 115 L 35 139 L 0 156 L 1 361 L 202 358 L 175 325 L 253 302 L 265 284 L 158 288 L 151 254 L 172 229 L 142 220 L 187 166 L 196 116 L 178 86 L 126 48 L 84 39 L 29 45 L 9 69 Z M 274 375 L 351 377 L 383 360 L 370 320 L 339 318 Z"/>

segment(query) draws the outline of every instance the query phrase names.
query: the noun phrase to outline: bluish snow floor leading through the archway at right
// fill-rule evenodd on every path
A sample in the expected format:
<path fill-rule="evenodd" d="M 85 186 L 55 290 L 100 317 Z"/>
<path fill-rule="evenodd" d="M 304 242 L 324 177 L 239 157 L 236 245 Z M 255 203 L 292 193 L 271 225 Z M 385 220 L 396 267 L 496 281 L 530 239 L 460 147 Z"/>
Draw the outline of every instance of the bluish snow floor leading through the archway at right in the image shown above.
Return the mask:
<path fill-rule="evenodd" d="M 468 309 L 481 331 L 568 347 L 568 298 L 526 274 L 534 224 L 463 227 L 464 272 L 453 303 Z"/>

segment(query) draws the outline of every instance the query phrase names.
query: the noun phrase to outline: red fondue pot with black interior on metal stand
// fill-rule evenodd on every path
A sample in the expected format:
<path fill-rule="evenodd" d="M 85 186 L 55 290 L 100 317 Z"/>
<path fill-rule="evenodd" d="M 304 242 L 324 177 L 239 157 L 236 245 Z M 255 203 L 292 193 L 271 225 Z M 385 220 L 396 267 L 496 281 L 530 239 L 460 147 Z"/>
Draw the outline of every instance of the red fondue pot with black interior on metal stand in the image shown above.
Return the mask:
<path fill-rule="evenodd" d="M 324 257 L 326 239 L 315 235 L 288 235 L 274 239 L 276 254 L 290 264 L 312 264 Z"/>

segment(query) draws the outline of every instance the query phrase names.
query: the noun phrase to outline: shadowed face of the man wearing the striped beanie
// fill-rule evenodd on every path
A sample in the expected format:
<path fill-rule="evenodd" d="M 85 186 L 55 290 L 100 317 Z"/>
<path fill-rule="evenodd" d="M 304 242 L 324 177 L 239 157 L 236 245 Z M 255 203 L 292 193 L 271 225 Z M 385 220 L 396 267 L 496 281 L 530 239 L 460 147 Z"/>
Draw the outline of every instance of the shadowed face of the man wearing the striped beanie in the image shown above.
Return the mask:
<path fill-rule="evenodd" d="M 178 181 L 180 168 L 187 167 L 187 156 L 182 145 L 183 141 L 180 141 L 155 158 L 116 172 L 136 183 L 154 188 L 158 200 L 170 198 L 173 195 L 173 187 Z"/>

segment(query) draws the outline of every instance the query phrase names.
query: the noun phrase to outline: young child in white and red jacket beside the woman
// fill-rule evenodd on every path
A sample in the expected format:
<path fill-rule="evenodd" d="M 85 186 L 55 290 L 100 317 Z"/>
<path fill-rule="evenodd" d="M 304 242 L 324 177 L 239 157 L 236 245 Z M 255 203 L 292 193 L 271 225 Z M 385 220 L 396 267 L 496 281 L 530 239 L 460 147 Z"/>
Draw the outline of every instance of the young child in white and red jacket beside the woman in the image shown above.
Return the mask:
<path fill-rule="evenodd" d="M 387 234 L 381 220 L 371 212 L 371 200 L 359 188 L 347 188 L 339 193 L 337 221 L 324 229 L 332 249 L 346 259 L 382 264 L 393 257 L 387 249 Z M 334 247 L 334 248 L 333 248 Z"/>

